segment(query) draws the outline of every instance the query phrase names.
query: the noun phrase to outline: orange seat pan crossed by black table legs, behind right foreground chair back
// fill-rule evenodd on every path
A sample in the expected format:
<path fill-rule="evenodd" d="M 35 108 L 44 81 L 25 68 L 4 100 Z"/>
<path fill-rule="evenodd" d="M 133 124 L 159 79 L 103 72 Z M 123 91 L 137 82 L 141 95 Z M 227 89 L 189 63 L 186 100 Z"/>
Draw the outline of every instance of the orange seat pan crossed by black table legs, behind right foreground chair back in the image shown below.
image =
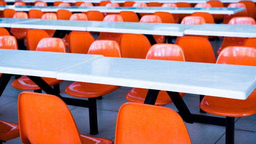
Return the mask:
<path fill-rule="evenodd" d="M 137 103 L 144 103 L 145 98 L 147 96 L 148 89 L 142 89 L 142 88 L 133 88 L 130 92 L 126 94 L 126 99 L 131 101 L 131 102 L 137 102 Z M 185 96 L 186 93 L 181 93 L 180 96 L 183 97 Z M 167 94 L 166 91 L 160 91 L 155 105 L 165 105 L 168 103 L 171 103 L 172 100 Z"/>

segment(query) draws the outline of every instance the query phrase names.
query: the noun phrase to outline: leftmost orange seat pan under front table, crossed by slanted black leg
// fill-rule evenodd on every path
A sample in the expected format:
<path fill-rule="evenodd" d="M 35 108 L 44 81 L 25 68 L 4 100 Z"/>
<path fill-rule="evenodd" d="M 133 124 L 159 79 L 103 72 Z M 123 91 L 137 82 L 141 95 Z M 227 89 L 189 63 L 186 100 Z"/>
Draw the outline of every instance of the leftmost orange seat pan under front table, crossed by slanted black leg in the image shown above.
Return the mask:
<path fill-rule="evenodd" d="M 42 79 L 50 86 L 53 86 L 53 85 L 63 82 L 63 80 L 57 80 L 56 78 L 42 77 Z M 20 89 L 20 90 L 39 90 L 39 89 L 41 89 L 32 80 L 30 80 L 28 78 L 28 76 L 21 76 L 20 78 L 16 79 L 15 81 L 12 82 L 12 86 L 14 88 Z"/>

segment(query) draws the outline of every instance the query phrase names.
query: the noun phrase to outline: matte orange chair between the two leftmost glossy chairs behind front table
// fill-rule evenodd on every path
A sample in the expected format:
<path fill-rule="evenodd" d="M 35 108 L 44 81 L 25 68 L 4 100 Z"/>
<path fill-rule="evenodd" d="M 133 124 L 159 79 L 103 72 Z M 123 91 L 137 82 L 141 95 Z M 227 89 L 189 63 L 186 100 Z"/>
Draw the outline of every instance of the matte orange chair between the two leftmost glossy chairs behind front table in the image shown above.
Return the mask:
<path fill-rule="evenodd" d="M 37 44 L 40 40 L 47 37 L 49 35 L 42 29 L 29 29 L 26 34 L 27 50 L 36 51 Z"/>

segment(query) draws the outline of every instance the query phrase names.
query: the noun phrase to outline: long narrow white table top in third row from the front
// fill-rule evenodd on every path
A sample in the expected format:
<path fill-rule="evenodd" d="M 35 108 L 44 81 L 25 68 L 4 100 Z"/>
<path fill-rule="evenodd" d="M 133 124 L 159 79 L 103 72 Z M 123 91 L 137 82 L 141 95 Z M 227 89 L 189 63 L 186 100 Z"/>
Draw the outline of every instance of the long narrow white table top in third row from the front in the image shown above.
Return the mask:
<path fill-rule="evenodd" d="M 122 12 L 132 11 L 138 13 L 154 13 L 154 12 L 170 12 L 170 13 L 194 13 L 194 12 L 208 12 L 210 14 L 235 14 L 237 12 L 244 11 L 244 8 L 227 8 L 227 7 L 210 7 L 210 8 L 194 8 L 194 7 L 105 7 L 105 6 L 70 6 L 70 7 L 58 7 L 58 6 L 13 6 L 5 5 L 0 6 L 0 10 L 14 9 L 15 11 L 29 11 L 31 9 L 38 9 L 42 12 L 57 12 L 60 9 L 68 10 L 70 12 L 87 12 L 87 11 L 100 11 L 100 12 Z"/>

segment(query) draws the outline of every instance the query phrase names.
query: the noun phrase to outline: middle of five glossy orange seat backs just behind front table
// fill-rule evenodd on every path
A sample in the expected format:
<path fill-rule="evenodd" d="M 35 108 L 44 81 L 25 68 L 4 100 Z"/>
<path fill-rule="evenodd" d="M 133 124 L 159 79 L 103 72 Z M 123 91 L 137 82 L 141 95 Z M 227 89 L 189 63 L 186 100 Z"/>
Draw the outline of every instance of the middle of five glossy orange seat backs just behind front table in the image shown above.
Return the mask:
<path fill-rule="evenodd" d="M 88 54 L 99 54 L 105 57 L 121 58 L 119 44 L 112 40 L 97 40 L 92 43 Z"/>

